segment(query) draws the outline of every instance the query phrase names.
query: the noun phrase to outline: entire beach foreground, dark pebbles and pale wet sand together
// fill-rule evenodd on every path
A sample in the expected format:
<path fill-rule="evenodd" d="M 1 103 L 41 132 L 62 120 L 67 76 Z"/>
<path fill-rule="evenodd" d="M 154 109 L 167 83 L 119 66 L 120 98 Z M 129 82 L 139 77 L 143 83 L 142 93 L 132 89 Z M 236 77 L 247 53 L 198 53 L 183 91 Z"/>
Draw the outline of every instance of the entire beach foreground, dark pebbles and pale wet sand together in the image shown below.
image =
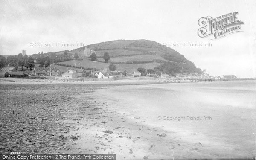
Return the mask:
<path fill-rule="evenodd" d="M 111 83 L 1 84 L 7 138 L 0 151 L 145 160 L 254 156 L 255 81 Z"/>

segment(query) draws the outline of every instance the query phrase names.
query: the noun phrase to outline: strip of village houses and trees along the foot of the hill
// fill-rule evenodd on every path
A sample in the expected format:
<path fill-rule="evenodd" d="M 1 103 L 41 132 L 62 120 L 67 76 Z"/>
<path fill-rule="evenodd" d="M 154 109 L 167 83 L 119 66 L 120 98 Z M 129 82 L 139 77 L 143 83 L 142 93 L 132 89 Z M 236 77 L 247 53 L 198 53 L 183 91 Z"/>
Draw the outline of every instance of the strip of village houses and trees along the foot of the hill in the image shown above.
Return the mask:
<path fill-rule="evenodd" d="M 128 73 L 124 71 L 109 71 L 109 69 L 104 70 L 86 70 L 86 69 L 62 69 L 56 67 L 39 67 L 35 64 L 35 67 L 30 70 L 26 67 L 3 67 L 0 69 L 1 78 L 29 78 L 29 79 L 47 79 L 47 78 L 61 78 L 61 79 L 86 79 L 86 78 L 96 78 L 96 79 L 211 79 L 213 81 L 219 80 L 236 80 L 235 75 L 223 75 L 223 76 L 209 76 L 209 74 L 198 74 L 198 73 L 183 73 L 177 74 L 177 76 L 170 76 L 165 73 L 157 75 L 157 73 L 140 73 L 134 71 L 133 73 Z"/>

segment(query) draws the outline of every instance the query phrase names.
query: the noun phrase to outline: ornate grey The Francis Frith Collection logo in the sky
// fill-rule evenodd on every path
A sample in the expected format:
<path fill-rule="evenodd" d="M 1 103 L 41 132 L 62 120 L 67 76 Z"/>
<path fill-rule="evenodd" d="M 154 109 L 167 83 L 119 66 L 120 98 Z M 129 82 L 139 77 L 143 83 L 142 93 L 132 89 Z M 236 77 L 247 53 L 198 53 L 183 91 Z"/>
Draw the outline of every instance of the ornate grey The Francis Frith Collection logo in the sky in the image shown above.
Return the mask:
<path fill-rule="evenodd" d="M 217 18 L 201 17 L 198 20 L 198 24 L 201 26 L 198 29 L 199 37 L 204 38 L 213 35 L 213 39 L 217 39 L 230 33 L 241 32 L 241 24 L 244 24 L 244 22 L 239 21 L 236 15 L 238 15 L 238 12 L 228 13 Z"/>

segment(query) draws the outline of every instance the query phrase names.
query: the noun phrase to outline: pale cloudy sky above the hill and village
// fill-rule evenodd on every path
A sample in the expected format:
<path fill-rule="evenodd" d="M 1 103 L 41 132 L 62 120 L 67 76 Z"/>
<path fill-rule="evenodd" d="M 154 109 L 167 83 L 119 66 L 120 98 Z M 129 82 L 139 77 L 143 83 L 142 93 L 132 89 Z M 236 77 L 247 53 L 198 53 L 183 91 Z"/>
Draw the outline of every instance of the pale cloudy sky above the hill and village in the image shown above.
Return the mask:
<path fill-rule="evenodd" d="M 201 17 L 230 12 L 239 12 L 243 32 L 215 40 L 198 36 Z M 256 0 L 1 0 L 0 15 L 0 55 L 146 39 L 185 43 L 171 48 L 212 76 L 256 77 Z M 39 46 L 50 43 L 58 45 Z"/>

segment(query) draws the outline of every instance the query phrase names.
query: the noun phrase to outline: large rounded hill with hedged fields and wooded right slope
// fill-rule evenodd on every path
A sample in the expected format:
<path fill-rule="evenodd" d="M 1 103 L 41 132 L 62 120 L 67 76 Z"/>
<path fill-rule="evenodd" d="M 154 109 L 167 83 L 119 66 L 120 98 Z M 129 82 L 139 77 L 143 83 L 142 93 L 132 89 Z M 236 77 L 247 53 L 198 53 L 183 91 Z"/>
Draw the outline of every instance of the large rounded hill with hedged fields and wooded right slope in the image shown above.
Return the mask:
<path fill-rule="evenodd" d="M 85 49 L 87 53 L 84 54 Z M 91 61 L 88 57 L 91 54 L 91 50 L 96 52 L 97 61 Z M 59 51 L 45 54 L 61 57 L 61 55 L 64 55 L 64 52 Z M 105 52 L 108 52 L 111 57 L 108 63 L 105 63 L 103 59 Z M 157 42 L 149 40 L 101 42 L 67 51 L 67 53 L 69 59 L 73 58 L 75 53 L 79 55 L 79 58 L 77 60 L 58 62 L 58 64 L 103 69 L 113 63 L 116 65 L 116 70 L 127 70 L 128 72 L 133 72 L 137 68 L 143 67 L 169 74 L 181 73 L 182 68 L 187 73 L 201 73 L 200 68 L 197 68 L 194 63 L 187 60 L 179 52 L 163 45 L 159 46 Z"/>

